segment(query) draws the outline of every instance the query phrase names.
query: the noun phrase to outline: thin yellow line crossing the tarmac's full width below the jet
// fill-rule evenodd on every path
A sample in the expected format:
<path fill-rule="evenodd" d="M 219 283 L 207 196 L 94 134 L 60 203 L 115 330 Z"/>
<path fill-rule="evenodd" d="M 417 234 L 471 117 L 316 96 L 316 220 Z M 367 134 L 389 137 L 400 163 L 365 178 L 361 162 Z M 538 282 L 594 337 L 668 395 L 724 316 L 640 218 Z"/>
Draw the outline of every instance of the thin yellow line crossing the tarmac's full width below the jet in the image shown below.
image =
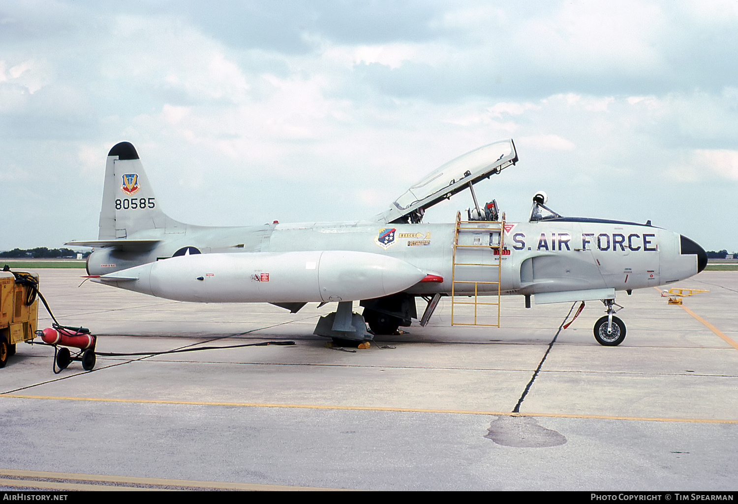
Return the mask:
<path fill-rule="evenodd" d="M 93 401 L 93 402 L 134 402 L 160 405 L 196 405 L 196 406 L 236 406 L 236 407 L 287 407 L 305 410 L 359 410 L 359 411 L 397 411 L 404 413 L 455 413 L 461 415 L 487 416 L 548 416 L 565 419 L 605 419 L 605 420 L 644 420 L 644 421 L 683 421 L 707 424 L 738 424 L 738 419 L 680 419 L 649 416 L 607 416 L 607 415 L 579 415 L 569 413 L 511 413 L 509 411 L 486 410 L 444 410 L 421 407 L 384 407 L 384 406 L 345 406 L 345 405 L 292 405 L 270 402 L 224 402 L 224 401 L 174 401 L 160 399 L 118 399 L 107 397 L 69 397 L 69 396 L 30 396 L 26 394 L 0 394 L 0 398 L 15 399 L 52 399 L 58 401 Z"/>

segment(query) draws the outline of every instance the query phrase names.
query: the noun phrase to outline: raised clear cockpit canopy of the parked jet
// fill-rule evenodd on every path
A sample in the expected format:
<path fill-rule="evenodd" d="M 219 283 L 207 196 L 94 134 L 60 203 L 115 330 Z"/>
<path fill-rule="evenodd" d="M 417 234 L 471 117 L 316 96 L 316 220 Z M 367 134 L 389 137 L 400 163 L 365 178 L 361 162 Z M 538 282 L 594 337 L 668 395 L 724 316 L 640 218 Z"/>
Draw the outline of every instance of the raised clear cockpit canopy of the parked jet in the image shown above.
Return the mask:
<path fill-rule="evenodd" d="M 496 141 L 460 155 L 430 172 L 376 216 L 383 223 L 419 222 L 425 210 L 517 163 L 512 139 Z"/>

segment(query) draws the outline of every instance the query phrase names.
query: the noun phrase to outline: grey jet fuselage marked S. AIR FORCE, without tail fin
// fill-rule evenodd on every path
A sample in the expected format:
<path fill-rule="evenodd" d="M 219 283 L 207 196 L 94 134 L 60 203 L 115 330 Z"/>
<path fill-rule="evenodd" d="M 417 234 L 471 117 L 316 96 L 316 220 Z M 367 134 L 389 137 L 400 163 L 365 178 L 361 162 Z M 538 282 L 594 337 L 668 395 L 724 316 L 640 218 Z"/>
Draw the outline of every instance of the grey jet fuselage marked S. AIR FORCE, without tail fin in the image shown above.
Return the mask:
<path fill-rule="evenodd" d="M 490 231 L 483 229 L 486 225 Z M 454 223 L 275 223 L 229 228 L 186 225 L 177 233 L 147 230 L 145 236 L 128 237 L 159 239 L 150 251 L 94 251 L 89 256 L 88 273 L 105 275 L 185 251 L 356 251 L 393 256 L 443 278 L 438 283 L 419 282 L 405 290 L 410 294 L 451 293 L 452 279 L 456 281 L 455 293 L 471 293 L 475 288 L 478 293 L 497 293 L 496 284 L 475 286 L 463 281 L 499 278 L 501 293 L 530 295 L 653 287 L 692 276 L 706 262 L 705 251 L 692 240 L 652 225 L 560 217 L 505 223 L 502 239 L 493 230 L 493 223 L 480 222 L 477 226 L 477 231 L 458 234 L 458 245 L 500 243 L 500 248 L 455 248 Z M 500 265 L 499 271 L 495 265 Z"/>

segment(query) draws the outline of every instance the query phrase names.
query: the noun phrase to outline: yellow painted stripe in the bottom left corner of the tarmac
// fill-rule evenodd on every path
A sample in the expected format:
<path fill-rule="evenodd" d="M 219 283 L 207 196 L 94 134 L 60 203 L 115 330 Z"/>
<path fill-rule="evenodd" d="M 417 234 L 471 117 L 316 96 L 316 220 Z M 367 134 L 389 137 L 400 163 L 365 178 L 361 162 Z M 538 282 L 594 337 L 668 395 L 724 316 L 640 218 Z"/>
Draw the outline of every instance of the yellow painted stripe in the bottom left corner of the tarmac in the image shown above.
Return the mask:
<path fill-rule="evenodd" d="M 198 489 L 221 490 L 256 490 L 256 491 L 323 491 L 342 489 L 322 489 L 312 486 L 261 485 L 256 483 L 227 483 L 221 481 L 170 480 L 159 477 L 125 477 L 109 475 L 80 475 L 74 472 L 23 471 L 20 469 L 0 469 L 0 476 L 10 477 L 44 477 L 58 480 L 95 481 L 99 483 L 123 483 L 128 485 L 182 486 Z M 63 490 L 159 490 L 131 486 L 114 486 L 94 483 L 65 483 L 55 481 L 0 479 L 0 485 L 29 486 L 32 488 Z M 163 489 L 169 490 L 169 489 Z"/>

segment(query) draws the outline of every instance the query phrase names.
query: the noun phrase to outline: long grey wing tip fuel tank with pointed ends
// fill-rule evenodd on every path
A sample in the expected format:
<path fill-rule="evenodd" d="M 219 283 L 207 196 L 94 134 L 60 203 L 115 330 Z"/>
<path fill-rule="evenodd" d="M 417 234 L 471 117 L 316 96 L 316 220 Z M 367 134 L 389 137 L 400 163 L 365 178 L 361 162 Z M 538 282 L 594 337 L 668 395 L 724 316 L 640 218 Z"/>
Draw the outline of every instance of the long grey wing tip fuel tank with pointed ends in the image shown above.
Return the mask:
<path fill-rule="evenodd" d="M 93 281 L 179 301 L 269 303 L 379 298 L 425 276 L 410 263 L 382 254 L 303 251 L 178 256 Z"/>

